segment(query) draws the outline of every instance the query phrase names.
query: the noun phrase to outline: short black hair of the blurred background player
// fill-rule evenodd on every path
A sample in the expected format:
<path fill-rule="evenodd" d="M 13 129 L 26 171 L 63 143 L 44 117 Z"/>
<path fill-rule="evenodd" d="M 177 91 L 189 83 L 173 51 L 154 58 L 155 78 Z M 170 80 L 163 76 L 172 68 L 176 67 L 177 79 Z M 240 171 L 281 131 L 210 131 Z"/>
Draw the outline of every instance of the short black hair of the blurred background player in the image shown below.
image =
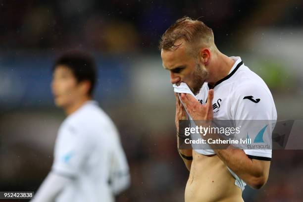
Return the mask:
<path fill-rule="evenodd" d="M 69 51 L 57 58 L 52 67 L 52 71 L 54 71 L 58 65 L 64 65 L 69 68 L 78 83 L 85 80 L 89 81 L 91 88 L 88 94 L 92 96 L 96 85 L 97 69 L 95 60 L 91 55 L 81 51 Z"/>

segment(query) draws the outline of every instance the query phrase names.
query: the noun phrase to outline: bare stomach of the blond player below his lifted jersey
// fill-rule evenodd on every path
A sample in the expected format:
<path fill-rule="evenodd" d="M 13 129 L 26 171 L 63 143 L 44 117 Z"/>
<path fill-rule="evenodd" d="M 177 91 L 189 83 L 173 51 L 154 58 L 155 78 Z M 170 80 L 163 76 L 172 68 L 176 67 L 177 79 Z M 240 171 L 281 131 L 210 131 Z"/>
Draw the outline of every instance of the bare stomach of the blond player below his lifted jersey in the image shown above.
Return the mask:
<path fill-rule="evenodd" d="M 217 155 L 193 151 L 185 202 L 243 202 L 242 191 Z"/>

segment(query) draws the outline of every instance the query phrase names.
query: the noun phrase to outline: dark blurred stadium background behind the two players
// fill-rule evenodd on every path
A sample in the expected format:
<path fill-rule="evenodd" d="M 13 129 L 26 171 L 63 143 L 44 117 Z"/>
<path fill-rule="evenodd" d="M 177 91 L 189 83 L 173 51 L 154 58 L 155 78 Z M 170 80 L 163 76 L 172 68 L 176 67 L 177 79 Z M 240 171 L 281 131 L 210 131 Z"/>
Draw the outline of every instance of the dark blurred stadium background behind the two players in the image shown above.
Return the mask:
<path fill-rule="evenodd" d="M 91 52 L 96 100 L 119 128 L 132 186 L 118 202 L 182 202 L 188 171 L 176 150 L 175 98 L 158 40 L 188 15 L 214 31 L 272 91 L 278 119 L 303 119 L 302 0 L 0 0 L 0 190 L 34 191 L 50 170 L 64 114 L 50 93 L 60 53 Z M 246 202 L 302 201 L 303 152 L 273 151 L 269 180 Z"/>

